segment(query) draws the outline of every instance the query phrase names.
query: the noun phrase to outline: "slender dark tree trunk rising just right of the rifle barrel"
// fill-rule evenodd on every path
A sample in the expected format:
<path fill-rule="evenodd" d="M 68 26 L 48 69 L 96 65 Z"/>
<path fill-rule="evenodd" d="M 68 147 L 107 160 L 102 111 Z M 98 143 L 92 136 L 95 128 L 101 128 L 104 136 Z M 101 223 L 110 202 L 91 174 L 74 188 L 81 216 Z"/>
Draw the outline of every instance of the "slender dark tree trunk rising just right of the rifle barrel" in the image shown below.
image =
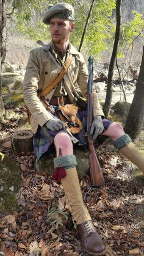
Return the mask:
<path fill-rule="evenodd" d="M 117 14 L 117 25 L 115 30 L 115 42 L 113 44 L 112 57 L 110 59 L 109 73 L 108 73 L 108 80 L 107 80 L 106 101 L 104 103 L 104 109 L 103 109 L 106 117 L 107 115 L 109 115 L 110 105 L 112 103 L 112 78 L 113 78 L 113 70 L 115 67 L 115 59 L 117 57 L 118 42 L 120 38 L 121 0 L 117 0 L 116 14 Z"/>

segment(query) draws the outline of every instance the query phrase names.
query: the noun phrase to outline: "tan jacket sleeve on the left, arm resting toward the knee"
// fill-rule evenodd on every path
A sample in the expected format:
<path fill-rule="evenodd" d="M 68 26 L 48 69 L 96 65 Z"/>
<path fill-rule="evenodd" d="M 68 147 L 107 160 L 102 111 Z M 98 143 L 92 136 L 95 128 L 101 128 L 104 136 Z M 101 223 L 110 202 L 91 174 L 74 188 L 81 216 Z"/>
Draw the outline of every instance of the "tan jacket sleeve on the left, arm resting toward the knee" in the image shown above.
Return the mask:
<path fill-rule="evenodd" d="M 42 62 L 41 62 L 42 63 Z M 40 80 L 40 60 L 34 50 L 31 51 L 26 66 L 26 73 L 23 81 L 23 97 L 24 102 L 29 108 L 34 119 L 40 126 L 43 126 L 49 119 L 51 114 L 45 109 L 37 96 L 38 82 Z"/>

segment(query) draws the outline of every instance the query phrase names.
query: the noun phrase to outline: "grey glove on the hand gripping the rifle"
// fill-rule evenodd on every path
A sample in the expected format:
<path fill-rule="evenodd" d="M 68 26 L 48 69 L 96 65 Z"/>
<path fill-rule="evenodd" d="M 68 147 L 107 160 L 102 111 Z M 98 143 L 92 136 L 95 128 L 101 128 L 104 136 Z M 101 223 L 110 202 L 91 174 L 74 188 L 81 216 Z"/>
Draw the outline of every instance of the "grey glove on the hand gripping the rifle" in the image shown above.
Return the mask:
<path fill-rule="evenodd" d="M 101 119 L 101 115 L 96 115 L 93 120 L 92 126 L 90 128 L 90 135 L 93 134 L 93 139 L 96 139 L 96 137 L 99 134 L 103 133 L 103 130 L 104 130 L 104 125 Z"/>

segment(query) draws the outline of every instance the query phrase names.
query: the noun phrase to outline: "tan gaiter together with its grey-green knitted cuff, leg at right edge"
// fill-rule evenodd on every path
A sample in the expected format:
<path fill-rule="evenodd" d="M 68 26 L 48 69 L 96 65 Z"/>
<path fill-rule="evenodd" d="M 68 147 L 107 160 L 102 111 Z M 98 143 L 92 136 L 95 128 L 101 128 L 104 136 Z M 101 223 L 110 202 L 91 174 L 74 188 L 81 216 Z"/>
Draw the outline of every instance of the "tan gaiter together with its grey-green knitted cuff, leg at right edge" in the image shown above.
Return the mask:
<path fill-rule="evenodd" d="M 113 142 L 113 145 L 144 173 L 144 156 L 140 154 L 128 134 L 118 138 L 117 141 Z"/>

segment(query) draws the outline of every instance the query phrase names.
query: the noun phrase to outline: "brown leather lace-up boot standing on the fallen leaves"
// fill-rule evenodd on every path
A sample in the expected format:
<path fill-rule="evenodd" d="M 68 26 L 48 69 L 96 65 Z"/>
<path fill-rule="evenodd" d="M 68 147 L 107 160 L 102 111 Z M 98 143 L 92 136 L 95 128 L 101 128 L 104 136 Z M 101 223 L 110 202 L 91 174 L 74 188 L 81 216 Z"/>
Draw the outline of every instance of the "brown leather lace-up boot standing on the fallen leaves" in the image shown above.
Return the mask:
<path fill-rule="evenodd" d="M 96 232 L 92 221 L 85 221 L 84 223 L 77 225 L 77 229 L 81 238 L 82 248 L 87 252 L 87 254 L 104 254 L 106 246 Z"/>

